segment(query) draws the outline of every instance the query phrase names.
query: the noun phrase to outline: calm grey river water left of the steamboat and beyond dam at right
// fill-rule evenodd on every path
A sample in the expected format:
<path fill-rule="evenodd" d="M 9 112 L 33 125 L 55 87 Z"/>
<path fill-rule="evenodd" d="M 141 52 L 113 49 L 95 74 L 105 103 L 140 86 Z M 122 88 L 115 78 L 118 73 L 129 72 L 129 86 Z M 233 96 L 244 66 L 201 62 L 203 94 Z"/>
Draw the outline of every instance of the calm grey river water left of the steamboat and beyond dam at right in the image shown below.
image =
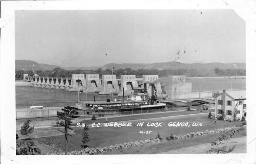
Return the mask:
<path fill-rule="evenodd" d="M 192 92 L 195 91 L 222 91 L 230 90 L 245 90 L 246 79 L 186 79 L 186 82 L 192 83 Z M 98 93 L 79 93 L 81 101 L 106 100 L 106 95 Z M 110 99 L 122 99 L 122 97 L 108 95 Z M 44 107 L 62 107 L 74 106 L 77 101 L 77 92 L 69 92 L 67 90 L 57 90 L 49 88 L 36 87 L 16 87 L 16 108 L 28 108 L 27 100 L 30 100 L 30 106 L 43 105 Z"/>

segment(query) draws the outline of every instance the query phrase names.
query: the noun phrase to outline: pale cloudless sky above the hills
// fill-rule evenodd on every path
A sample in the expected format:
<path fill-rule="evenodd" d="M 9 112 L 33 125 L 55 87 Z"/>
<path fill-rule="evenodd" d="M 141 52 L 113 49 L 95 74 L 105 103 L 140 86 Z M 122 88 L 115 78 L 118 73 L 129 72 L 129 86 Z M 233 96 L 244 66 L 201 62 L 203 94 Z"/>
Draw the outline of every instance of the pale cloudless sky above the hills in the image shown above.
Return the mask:
<path fill-rule="evenodd" d="M 15 59 L 62 67 L 245 62 L 245 45 L 232 9 L 15 11 Z"/>

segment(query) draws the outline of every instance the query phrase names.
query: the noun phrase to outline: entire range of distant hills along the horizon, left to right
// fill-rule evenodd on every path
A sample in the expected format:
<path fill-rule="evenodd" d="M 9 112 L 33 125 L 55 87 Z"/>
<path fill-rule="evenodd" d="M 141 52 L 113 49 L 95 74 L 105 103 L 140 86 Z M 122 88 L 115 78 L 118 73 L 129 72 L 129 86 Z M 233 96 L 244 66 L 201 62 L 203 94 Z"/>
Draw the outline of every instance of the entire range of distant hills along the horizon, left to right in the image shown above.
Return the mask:
<path fill-rule="evenodd" d="M 34 65 L 34 66 L 33 66 Z M 53 70 L 54 68 L 62 68 L 65 70 L 96 70 L 98 68 L 102 68 L 102 70 L 105 69 L 112 69 L 114 67 L 115 69 L 125 69 L 125 68 L 131 68 L 133 70 L 137 69 L 196 69 L 196 70 L 213 70 L 215 68 L 219 69 L 246 69 L 245 63 L 219 63 L 219 62 L 211 62 L 211 63 L 179 63 L 179 62 L 158 62 L 158 63 L 122 63 L 122 64 L 116 64 L 116 63 L 109 63 L 104 65 L 103 67 L 60 67 L 58 65 L 48 65 L 48 64 L 40 64 L 31 60 L 15 60 L 15 70 L 32 70 L 32 67 L 35 71 L 37 70 Z"/>

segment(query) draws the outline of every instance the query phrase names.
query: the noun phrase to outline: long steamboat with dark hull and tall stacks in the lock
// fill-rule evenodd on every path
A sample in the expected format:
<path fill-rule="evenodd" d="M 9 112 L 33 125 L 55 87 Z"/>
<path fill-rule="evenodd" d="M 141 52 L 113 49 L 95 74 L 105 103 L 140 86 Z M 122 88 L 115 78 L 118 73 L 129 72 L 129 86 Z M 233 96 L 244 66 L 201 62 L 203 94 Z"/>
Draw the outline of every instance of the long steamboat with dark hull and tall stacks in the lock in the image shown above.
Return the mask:
<path fill-rule="evenodd" d="M 124 93 L 124 92 L 123 92 Z M 166 104 L 161 103 L 157 99 L 157 92 L 154 91 L 154 87 L 151 87 L 151 97 L 148 96 L 146 88 L 134 88 L 134 93 L 130 94 L 122 99 L 108 99 L 106 101 L 80 101 L 75 102 L 75 107 L 64 107 L 66 110 L 75 110 L 74 116 L 91 116 L 91 115 L 113 115 L 121 114 L 123 112 L 132 113 L 148 113 L 151 109 L 162 109 L 164 110 Z M 137 112 L 136 112 L 137 111 Z"/>

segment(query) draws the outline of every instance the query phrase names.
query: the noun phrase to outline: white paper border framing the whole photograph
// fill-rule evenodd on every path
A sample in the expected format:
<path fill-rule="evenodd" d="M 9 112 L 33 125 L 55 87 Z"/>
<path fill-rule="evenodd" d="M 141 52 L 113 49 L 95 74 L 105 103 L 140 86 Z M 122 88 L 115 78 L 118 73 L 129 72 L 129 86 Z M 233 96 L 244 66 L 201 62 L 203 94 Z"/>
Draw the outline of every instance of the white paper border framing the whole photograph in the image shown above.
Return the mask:
<path fill-rule="evenodd" d="M 256 163 L 256 10 L 253 0 L 47 0 L 1 1 L 0 149 L 1 163 Z M 233 9 L 246 23 L 247 153 L 166 155 L 16 156 L 15 10 Z M 228 23 L 228 22 L 227 22 Z"/>

